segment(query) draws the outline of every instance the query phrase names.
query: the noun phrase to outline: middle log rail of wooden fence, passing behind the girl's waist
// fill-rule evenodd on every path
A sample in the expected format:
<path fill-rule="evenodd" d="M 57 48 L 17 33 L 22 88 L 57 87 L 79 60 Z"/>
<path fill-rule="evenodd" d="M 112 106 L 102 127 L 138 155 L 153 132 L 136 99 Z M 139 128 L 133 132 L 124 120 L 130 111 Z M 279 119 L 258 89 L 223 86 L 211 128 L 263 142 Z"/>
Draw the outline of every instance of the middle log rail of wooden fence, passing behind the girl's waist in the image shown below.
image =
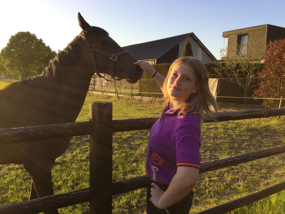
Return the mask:
<path fill-rule="evenodd" d="M 234 165 L 246 163 L 252 160 L 257 160 L 260 158 L 265 158 L 265 157 L 269 157 L 272 155 L 281 154 L 284 152 L 285 152 L 285 144 L 281 146 L 274 146 L 271 148 L 249 152 L 246 154 L 241 154 L 241 155 L 232 156 L 228 158 L 221 158 L 217 160 L 206 161 L 206 162 L 201 163 L 199 173 L 205 173 L 208 171 L 213 171 L 213 170 L 221 169 L 224 167 L 234 166 Z M 120 193 L 125 193 L 128 191 L 133 191 L 136 189 L 147 187 L 148 180 L 149 180 L 149 177 L 147 175 L 144 175 L 144 176 L 134 177 L 134 178 L 125 179 L 121 181 L 115 181 L 112 183 L 112 195 L 117 195 Z M 12 213 L 15 213 L 16 210 L 19 210 L 19 211 L 21 210 L 21 212 L 19 213 L 30 213 L 31 211 L 41 212 L 47 207 L 59 209 L 62 207 L 67 207 L 67 206 L 71 206 L 71 205 L 78 204 L 78 203 L 88 202 L 91 199 L 93 199 L 94 194 L 95 193 L 93 193 L 92 189 L 89 187 L 89 188 L 85 188 L 81 190 L 71 191 L 68 193 L 60 193 L 57 195 L 50 195 L 50 196 L 46 196 L 46 197 L 42 197 L 38 199 L 32 199 L 32 200 L 23 201 L 23 202 L 11 204 L 11 205 L 5 205 L 5 206 L 0 207 L 0 213 L 7 213 L 7 214 L 11 213 L 12 214 Z M 264 196 L 264 197 L 267 197 L 267 196 Z"/>

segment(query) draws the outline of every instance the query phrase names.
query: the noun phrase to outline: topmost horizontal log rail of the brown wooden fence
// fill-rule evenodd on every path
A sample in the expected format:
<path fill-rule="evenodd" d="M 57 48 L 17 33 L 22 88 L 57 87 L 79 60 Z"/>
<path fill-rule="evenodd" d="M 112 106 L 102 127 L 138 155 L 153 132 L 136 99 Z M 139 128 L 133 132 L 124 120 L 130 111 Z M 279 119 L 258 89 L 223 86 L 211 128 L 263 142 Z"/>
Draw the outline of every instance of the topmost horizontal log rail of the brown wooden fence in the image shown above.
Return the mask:
<path fill-rule="evenodd" d="M 218 112 L 217 121 L 244 120 L 285 115 L 285 108 L 270 108 L 232 112 Z M 113 120 L 113 132 L 150 129 L 159 117 Z M 205 120 L 205 123 L 215 122 Z M 74 137 L 93 134 L 94 124 L 90 121 L 0 129 L 0 145 L 37 140 Z"/>

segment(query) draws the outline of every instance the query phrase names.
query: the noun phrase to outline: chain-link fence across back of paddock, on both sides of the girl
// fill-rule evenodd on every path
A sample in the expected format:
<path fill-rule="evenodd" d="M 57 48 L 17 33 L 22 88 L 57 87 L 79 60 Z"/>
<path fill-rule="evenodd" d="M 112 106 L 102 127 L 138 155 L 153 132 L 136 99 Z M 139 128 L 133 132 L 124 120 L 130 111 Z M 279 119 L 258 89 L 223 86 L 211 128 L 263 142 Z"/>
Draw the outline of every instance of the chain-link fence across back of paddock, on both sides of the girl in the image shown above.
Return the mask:
<path fill-rule="evenodd" d="M 262 93 L 258 91 L 260 86 L 263 86 Z M 285 78 L 218 78 L 216 100 L 219 108 L 223 109 L 268 108 L 263 106 L 264 103 L 271 103 L 273 108 L 278 108 L 280 98 L 282 97 L 283 101 L 285 99 L 284 87 Z M 131 98 L 139 96 L 150 100 L 163 97 L 154 79 L 140 79 L 131 84 L 126 80 L 109 82 L 97 77 L 91 80 L 89 91 L 129 95 Z M 264 94 L 264 91 L 267 93 Z"/>

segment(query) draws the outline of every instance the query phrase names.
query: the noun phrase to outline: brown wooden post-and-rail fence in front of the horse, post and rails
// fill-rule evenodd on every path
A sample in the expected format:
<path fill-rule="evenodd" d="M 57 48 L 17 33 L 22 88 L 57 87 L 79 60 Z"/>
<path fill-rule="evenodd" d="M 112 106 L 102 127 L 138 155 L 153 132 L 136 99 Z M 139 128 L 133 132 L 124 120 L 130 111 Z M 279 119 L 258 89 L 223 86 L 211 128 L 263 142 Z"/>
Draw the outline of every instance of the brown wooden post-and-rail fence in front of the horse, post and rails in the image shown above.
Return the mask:
<path fill-rule="evenodd" d="M 285 108 L 219 112 L 218 121 L 285 115 Z M 91 102 L 89 122 L 32 126 L 0 130 L 0 144 L 90 135 L 90 187 L 0 207 L 0 213 L 36 213 L 90 201 L 90 213 L 111 214 L 112 195 L 147 187 L 148 177 L 112 182 L 112 133 L 150 129 L 158 117 L 112 120 L 111 102 Z M 214 122 L 206 120 L 205 122 Z M 285 152 L 285 144 L 242 155 L 201 163 L 200 173 L 245 163 Z M 285 181 L 256 193 L 206 209 L 203 213 L 226 213 L 285 189 Z"/>

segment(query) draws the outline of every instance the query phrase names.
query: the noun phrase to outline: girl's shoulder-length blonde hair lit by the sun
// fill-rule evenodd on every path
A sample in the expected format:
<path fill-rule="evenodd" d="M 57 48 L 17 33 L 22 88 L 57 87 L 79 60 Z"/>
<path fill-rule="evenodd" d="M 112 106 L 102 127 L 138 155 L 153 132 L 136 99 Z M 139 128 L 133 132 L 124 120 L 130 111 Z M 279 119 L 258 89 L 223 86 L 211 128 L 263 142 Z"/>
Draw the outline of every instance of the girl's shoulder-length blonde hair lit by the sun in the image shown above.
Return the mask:
<path fill-rule="evenodd" d="M 168 104 L 170 101 L 170 97 L 167 93 L 167 81 L 170 76 L 170 73 L 172 71 L 172 68 L 178 64 L 184 64 L 190 66 L 194 70 L 194 76 L 195 76 L 195 83 L 199 83 L 199 88 L 198 91 L 194 94 L 191 94 L 190 97 L 188 97 L 184 103 L 181 103 L 176 107 L 176 109 L 181 109 L 179 114 L 185 113 L 185 112 L 190 112 L 190 111 L 196 111 L 199 116 L 199 122 L 200 125 L 204 122 L 204 119 L 206 116 L 204 115 L 204 112 L 206 112 L 207 116 L 215 120 L 216 116 L 214 114 L 211 114 L 211 106 L 215 109 L 215 112 L 217 112 L 217 102 L 214 98 L 214 96 L 211 94 L 211 91 L 209 89 L 209 77 L 207 74 L 207 70 L 203 63 L 197 59 L 193 58 L 191 56 L 186 56 L 182 58 L 176 59 L 170 66 L 168 70 L 168 74 L 164 80 L 162 91 L 164 94 L 164 100 L 165 103 Z"/>

